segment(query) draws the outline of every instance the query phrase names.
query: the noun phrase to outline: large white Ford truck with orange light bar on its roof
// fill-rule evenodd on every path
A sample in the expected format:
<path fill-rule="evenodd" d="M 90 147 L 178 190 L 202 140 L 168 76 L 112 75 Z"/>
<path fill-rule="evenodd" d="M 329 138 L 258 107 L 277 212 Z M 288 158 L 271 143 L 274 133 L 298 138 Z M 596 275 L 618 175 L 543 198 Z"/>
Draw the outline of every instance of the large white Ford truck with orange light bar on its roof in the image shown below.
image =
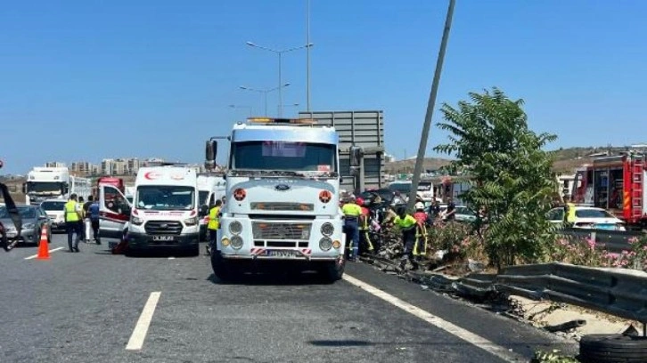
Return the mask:
<path fill-rule="evenodd" d="M 217 278 L 244 265 L 301 265 L 330 282 L 345 267 L 339 207 L 339 135 L 311 119 L 250 117 L 227 137 L 207 141 L 213 169 L 217 139 L 230 141 L 225 206 L 211 252 Z"/>

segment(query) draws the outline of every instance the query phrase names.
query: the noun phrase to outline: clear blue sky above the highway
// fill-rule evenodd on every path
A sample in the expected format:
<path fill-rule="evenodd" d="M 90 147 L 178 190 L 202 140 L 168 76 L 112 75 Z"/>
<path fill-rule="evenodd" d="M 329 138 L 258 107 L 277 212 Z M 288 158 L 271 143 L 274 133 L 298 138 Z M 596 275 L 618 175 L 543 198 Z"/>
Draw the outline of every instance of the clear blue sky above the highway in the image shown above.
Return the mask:
<path fill-rule="evenodd" d="M 312 109 L 383 109 L 387 149 L 413 155 L 446 4 L 311 0 Z M 458 0 L 436 109 L 498 86 L 526 101 L 531 128 L 558 134 L 553 148 L 645 142 L 645 13 L 640 0 Z M 247 116 L 227 105 L 262 113 L 239 86 L 278 84 L 276 56 L 245 42 L 306 44 L 305 14 L 306 0 L 5 3 L 2 172 L 102 157 L 201 162 L 204 140 Z M 283 82 L 295 116 L 305 51 L 284 56 Z M 271 114 L 276 105 L 270 93 Z M 434 127 L 429 150 L 443 141 Z"/>

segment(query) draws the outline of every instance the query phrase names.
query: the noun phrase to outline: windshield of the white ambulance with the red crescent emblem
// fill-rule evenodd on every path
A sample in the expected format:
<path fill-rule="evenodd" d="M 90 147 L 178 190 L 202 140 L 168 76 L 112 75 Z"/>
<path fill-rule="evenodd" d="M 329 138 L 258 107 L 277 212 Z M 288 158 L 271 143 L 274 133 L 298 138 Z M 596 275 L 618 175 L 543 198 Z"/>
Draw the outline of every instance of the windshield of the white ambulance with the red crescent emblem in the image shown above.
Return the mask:
<path fill-rule="evenodd" d="M 195 207 L 195 189 L 168 185 L 143 185 L 137 188 L 136 206 L 156 211 L 189 210 Z"/>

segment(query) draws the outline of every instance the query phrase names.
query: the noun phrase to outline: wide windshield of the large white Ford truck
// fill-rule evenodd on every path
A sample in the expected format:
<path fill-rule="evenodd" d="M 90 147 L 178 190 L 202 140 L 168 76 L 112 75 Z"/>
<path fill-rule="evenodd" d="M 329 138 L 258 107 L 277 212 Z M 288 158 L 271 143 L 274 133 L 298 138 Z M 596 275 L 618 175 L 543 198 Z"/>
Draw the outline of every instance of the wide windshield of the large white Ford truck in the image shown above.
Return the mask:
<path fill-rule="evenodd" d="M 331 144 L 241 141 L 232 145 L 232 169 L 335 173 L 336 155 Z"/>

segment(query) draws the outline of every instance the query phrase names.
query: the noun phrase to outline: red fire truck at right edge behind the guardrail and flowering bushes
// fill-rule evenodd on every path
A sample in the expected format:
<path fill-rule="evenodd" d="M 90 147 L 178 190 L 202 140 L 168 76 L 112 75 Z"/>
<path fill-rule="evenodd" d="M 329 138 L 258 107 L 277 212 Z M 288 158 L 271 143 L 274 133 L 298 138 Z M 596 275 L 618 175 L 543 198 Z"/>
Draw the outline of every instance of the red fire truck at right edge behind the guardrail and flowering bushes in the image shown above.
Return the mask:
<path fill-rule="evenodd" d="M 573 202 L 608 209 L 628 227 L 647 228 L 645 154 L 628 152 L 612 157 L 596 157 L 592 165 L 577 170 L 573 182 Z"/>

